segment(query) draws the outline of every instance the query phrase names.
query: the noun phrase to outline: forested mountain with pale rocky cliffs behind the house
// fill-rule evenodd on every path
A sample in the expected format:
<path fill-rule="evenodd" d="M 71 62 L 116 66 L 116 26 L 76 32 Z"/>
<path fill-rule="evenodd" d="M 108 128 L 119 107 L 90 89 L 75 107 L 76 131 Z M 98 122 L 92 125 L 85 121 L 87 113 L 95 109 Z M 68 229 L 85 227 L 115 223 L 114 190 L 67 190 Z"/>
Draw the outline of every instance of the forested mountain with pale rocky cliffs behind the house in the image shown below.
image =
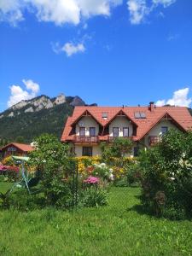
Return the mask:
<path fill-rule="evenodd" d="M 16 141 L 18 137 L 24 143 L 32 143 L 34 137 L 44 132 L 61 137 L 67 117 L 73 113 L 73 108 L 85 105 L 79 96 L 63 94 L 54 98 L 42 95 L 21 101 L 0 113 L 0 144 L 1 141 Z"/>

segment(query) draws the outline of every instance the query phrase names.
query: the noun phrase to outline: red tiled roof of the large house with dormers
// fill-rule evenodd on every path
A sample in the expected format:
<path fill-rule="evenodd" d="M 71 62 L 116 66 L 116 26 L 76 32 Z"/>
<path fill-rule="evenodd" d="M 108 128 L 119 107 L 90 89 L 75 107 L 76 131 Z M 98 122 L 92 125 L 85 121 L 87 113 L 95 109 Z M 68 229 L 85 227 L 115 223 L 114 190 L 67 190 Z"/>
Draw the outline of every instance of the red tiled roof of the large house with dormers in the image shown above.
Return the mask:
<path fill-rule="evenodd" d="M 148 107 L 76 107 L 73 116 L 67 119 L 67 124 L 61 136 L 62 142 L 73 138 L 70 136 L 71 125 L 79 120 L 86 110 L 103 126 L 108 125 L 120 111 L 123 111 L 127 118 L 137 125 L 137 137 L 134 137 L 134 140 L 142 139 L 166 114 L 172 118 L 181 130 L 187 131 L 192 128 L 192 117 L 188 108 L 185 107 L 155 107 L 153 111 L 150 111 Z M 102 118 L 103 112 L 108 113 L 108 119 Z M 145 113 L 146 119 L 136 119 L 135 112 Z"/>

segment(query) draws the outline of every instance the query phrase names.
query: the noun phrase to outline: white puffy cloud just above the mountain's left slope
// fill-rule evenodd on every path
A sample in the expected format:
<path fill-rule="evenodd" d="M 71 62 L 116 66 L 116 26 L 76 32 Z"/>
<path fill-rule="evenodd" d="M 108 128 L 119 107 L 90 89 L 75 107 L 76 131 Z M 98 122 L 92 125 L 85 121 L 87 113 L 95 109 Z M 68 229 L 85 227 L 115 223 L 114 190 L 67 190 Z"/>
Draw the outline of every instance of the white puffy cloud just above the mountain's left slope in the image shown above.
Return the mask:
<path fill-rule="evenodd" d="M 38 96 L 38 91 L 40 90 L 39 85 L 34 83 L 32 80 L 22 80 L 23 83 L 26 85 L 26 90 L 23 90 L 20 85 L 11 85 L 10 92 L 11 95 L 9 96 L 8 107 L 15 105 L 22 100 L 30 100 L 35 96 Z"/>

